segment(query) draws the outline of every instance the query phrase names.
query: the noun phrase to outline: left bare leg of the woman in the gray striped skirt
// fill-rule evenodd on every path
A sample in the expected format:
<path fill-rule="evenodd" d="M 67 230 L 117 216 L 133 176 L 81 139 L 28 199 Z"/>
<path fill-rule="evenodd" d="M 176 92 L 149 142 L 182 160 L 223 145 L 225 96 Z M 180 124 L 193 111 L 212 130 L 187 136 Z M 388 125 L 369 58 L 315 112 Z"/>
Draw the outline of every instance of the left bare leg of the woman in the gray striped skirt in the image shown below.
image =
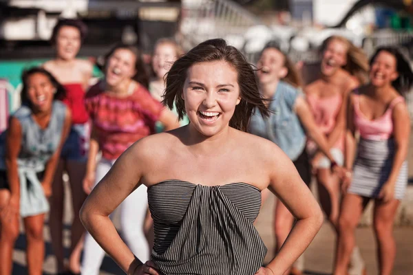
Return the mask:
<path fill-rule="evenodd" d="M 356 230 L 361 213 L 368 201 L 368 198 L 363 198 L 354 194 L 346 194 L 343 197 L 338 222 L 335 275 L 347 274 L 350 255 L 355 243 L 354 231 Z"/>

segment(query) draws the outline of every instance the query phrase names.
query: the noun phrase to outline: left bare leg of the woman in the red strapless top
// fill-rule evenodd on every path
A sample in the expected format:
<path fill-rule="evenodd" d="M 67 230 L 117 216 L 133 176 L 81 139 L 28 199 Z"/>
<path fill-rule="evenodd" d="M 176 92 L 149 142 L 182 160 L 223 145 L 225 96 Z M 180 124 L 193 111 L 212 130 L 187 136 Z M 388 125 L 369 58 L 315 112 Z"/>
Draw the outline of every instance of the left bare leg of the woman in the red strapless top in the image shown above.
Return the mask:
<path fill-rule="evenodd" d="M 56 256 L 57 272 L 64 271 L 64 255 L 63 255 L 63 203 L 65 201 L 64 186 L 63 186 L 63 170 L 65 162 L 60 160 L 59 166 L 54 174 L 52 184 L 52 196 L 50 197 L 50 236 L 52 238 L 52 248 L 54 256 Z"/>

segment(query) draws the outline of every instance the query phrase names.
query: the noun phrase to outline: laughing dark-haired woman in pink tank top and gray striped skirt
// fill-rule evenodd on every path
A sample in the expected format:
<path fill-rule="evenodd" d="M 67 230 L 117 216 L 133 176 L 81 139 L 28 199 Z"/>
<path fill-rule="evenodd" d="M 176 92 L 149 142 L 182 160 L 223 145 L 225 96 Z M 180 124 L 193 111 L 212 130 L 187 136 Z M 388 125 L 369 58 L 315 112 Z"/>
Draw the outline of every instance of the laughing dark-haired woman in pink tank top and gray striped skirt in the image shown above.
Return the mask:
<path fill-rule="evenodd" d="M 370 83 L 354 91 L 347 111 L 343 200 L 339 217 L 334 274 L 346 274 L 354 247 L 354 230 L 363 209 L 374 199 L 374 233 L 380 274 L 391 274 L 396 247 L 394 215 L 407 185 L 410 118 L 401 94 L 413 82 L 401 53 L 382 47 L 370 61 Z M 355 142 L 355 133 L 360 140 Z M 357 153 L 356 153 L 357 151 Z"/>

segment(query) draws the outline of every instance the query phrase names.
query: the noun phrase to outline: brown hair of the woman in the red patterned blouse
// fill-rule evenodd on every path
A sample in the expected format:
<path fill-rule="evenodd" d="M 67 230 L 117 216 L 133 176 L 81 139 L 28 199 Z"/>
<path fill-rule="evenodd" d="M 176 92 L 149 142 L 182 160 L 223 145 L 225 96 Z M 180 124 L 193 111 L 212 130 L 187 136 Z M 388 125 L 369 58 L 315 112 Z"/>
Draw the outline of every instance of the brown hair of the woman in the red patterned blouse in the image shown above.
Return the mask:
<path fill-rule="evenodd" d="M 142 86 L 148 89 L 149 87 L 149 76 L 147 74 L 147 70 L 145 68 L 145 64 L 142 61 L 142 51 L 133 45 L 126 45 L 123 43 L 119 43 L 115 45 L 112 50 L 110 50 L 106 55 L 105 55 L 105 66 L 107 65 L 107 60 L 109 59 L 114 52 L 116 52 L 119 49 L 124 49 L 124 50 L 129 50 L 134 55 L 136 56 L 136 63 L 135 63 L 135 70 L 136 74 L 132 77 L 133 80 L 136 82 L 140 83 Z"/>

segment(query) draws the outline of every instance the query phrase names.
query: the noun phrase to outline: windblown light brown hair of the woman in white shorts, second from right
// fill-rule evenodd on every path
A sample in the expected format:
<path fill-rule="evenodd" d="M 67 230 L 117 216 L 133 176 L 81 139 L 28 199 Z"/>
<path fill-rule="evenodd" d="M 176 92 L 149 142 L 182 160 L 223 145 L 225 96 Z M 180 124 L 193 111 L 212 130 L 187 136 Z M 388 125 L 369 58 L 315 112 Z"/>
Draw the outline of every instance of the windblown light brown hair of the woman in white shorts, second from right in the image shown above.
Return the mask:
<path fill-rule="evenodd" d="M 349 72 L 352 76 L 355 76 L 361 85 L 368 83 L 368 70 L 370 69 L 370 66 L 368 65 L 368 58 L 363 50 L 354 46 L 353 43 L 343 36 L 333 35 L 324 40 L 321 45 L 321 52 L 324 52 L 328 44 L 333 40 L 337 40 L 347 47 L 347 64 L 343 69 Z"/>

